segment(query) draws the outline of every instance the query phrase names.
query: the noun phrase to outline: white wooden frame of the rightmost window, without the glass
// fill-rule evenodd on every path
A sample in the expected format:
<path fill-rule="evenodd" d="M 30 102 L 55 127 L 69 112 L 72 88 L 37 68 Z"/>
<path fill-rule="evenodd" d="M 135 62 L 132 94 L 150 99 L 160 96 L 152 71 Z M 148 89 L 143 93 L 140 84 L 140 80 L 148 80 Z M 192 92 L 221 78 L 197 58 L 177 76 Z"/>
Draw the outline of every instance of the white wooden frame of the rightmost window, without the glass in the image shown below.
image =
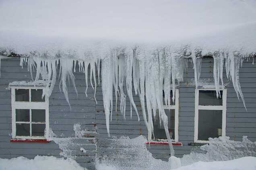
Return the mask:
<path fill-rule="evenodd" d="M 194 142 L 195 143 L 209 143 L 208 140 L 198 140 L 198 110 L 222 110 L 221 136 L 226 136 L 227 89 L 220 89 L 220 91 L 222 91 L 222 105 L 199 105 L 199 91 L 200 90 L 216 91 L 216 89 L 207 88 L 207 89 L 196 89 L 195 90 Z"/>

